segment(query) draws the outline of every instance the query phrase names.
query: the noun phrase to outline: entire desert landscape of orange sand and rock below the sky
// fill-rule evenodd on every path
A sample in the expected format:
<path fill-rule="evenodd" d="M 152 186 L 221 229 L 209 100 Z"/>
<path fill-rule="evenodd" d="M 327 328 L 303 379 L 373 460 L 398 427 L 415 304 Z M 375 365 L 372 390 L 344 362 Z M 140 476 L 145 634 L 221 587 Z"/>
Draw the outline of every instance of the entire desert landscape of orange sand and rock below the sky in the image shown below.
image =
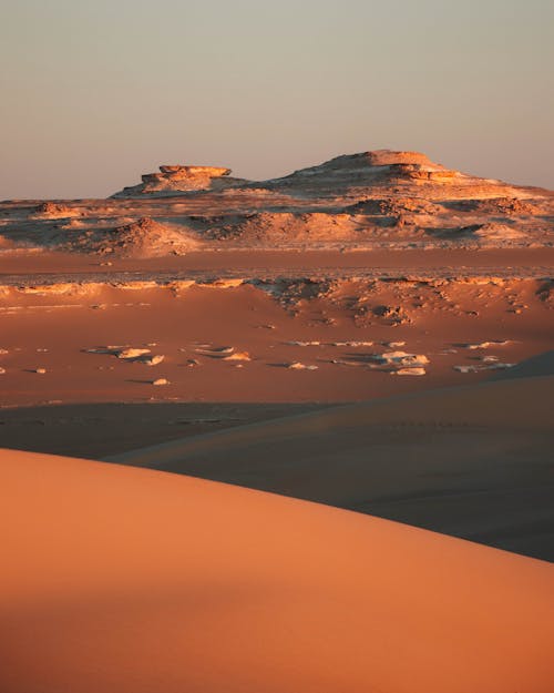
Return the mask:
<path fill-rule="evenodd" d="M 554 192 L 230 173 L 0 203 L 1 690 L 552 691 Z"/>

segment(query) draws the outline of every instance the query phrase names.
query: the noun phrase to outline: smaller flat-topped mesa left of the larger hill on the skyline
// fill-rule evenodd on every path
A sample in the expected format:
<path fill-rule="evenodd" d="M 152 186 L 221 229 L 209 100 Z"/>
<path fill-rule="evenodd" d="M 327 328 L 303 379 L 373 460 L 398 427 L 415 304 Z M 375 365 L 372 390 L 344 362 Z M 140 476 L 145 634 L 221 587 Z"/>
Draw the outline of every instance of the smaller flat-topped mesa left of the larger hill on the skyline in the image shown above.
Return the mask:
<path fill-rule="evenodd" d="M 135 197 L 141 195 L 175 195 L 179 193 L 220 190 L 242 183 L 229 176 L 230 169 L 224 166 L 189 166 L 164 164 L 160 173 L 145 173 L 140 185 L 125 187 L 113 197 Z"/>

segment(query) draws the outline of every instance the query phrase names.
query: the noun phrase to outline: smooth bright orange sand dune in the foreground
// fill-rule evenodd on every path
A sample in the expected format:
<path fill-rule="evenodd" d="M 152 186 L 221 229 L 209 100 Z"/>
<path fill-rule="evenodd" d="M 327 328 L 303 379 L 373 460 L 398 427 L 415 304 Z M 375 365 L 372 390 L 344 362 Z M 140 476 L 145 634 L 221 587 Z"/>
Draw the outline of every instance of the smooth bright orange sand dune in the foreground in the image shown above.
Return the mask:
<path fill-rule="evenodd" d="M 554 569 L 144 469 L 3 450 L 3 693 L 548 693 Z"/>

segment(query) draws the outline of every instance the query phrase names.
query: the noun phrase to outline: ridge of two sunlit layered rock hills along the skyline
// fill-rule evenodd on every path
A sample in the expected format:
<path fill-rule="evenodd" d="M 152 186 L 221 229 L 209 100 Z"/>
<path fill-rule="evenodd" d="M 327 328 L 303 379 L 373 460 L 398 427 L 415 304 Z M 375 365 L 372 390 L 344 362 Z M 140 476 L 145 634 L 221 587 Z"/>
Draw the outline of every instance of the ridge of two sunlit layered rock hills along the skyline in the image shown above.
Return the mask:
<path fill-rule="evenodd" d="M 447 169 L 420 152 L 393 150 L 343 154 L 316 166 L 260 182 L 229 174 L 230 170 L 223 166 L 165 164 L 160 166 L 160 173 L 144 174 L 140 185 L 125 187 L 113 197 L 243 191 L 254 202 L 264 195 L 293 195 L 320 203 L 339 201 L 345 205 L 363 200 L 398 197 L 430 203 L 505 198 L 515 204 L 544 192 Z"/>

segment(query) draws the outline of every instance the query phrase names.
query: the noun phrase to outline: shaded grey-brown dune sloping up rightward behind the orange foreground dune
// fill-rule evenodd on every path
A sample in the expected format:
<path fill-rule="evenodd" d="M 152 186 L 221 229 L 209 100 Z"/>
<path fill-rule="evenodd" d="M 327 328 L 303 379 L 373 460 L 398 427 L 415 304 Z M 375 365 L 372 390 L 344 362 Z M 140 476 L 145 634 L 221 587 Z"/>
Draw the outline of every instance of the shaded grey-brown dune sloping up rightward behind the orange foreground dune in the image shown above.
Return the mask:
<path fill-rule="evenodd" d="M 335 407 L 110 459 L 554 560 L 554 376 Z"/>

